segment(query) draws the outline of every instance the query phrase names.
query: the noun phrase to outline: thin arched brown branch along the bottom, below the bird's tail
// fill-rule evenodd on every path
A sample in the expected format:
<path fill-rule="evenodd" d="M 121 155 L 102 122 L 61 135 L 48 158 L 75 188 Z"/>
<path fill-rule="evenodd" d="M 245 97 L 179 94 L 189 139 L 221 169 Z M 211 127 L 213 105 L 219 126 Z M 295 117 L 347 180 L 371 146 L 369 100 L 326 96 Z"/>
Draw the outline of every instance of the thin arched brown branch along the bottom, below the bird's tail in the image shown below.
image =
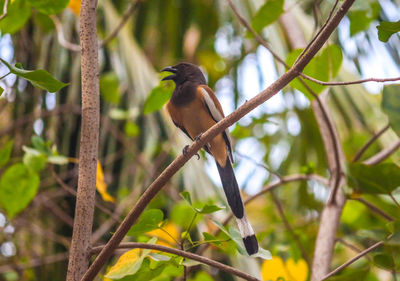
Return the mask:
<path fill-rule="evenodd" d="M 94 247 L 91 251 L 92 254 L 94 253 L 98 253 L 100 252 L 102 249 L 104 249 L 104 245 L 103 246 L 97 246 Z M 198 262 L 201 262 L 203 264 L 218 268 L 222 271 L 225 271 L 227 273 L 236 275 L 238 277 L 241 277 L 245 280 L 251 280 L 251 281 L 260 281 L 258 278 L 255 278 L 251 275 L 249 275 L 248 273 L 245 273 L 243 271 L 240 271 L 234 267 L 225 265 L 223 263 L 217 262 L 215 260 L 191 253 L 191 252 L 186 252 L 186 251 L 182 251 L 182 250 L 178 250 L 178 249 L 174 249 L 174 248 L 170 248 L 170 247 L 166 247 L 166 246 L 162 246 L 162 245 L 157 245 L 157 244 L 147 244 L 147 243 L 138 243 L 138 242 L 127 242 L 127 243 L 121 243 L 118 246 L 118 249 L 150 249 L 150 250 L 157 250 L 157 251 L 161 251 L 161 252 L 165 252 L 165 253 L 170 253 L 170 254 L 174 254 L 174 255 L 178 255 L 184 258 L 188 258 L 191 260 L 195 260 Z"/>

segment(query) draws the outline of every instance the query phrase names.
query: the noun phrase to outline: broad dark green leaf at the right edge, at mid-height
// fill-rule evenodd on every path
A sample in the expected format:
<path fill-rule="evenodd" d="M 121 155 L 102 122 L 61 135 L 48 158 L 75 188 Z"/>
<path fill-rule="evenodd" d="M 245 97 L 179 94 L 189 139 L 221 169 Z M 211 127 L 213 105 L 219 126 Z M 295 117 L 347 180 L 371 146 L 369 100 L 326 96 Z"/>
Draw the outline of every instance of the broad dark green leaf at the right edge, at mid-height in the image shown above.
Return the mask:
<path fill-rule="evenodd" d="M 348 165 L 348 183 L 361 193 L 389 194 L 400 186 L 400 168 L 393 163 Z"/>

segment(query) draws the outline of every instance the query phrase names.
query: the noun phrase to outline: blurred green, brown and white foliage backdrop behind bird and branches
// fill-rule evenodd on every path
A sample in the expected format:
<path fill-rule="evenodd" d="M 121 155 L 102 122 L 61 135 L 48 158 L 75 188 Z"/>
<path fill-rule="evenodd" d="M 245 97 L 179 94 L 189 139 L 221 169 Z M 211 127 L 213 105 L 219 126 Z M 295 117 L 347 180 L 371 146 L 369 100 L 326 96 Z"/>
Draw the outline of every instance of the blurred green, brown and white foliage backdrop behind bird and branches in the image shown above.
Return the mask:
<path fill-rule="evenodd" d="M 52 15 L 41 12 L 30 2 L 12 1 L 11 5 L 19 6 L 10 8 L 7 17 L 18 13 L 19 20 L 13 24 L 5 22 L 7 18 L 0 21 L 0 57 L 13 64 L 21 63 L 25 69 L 46 69 L 70 84 L 57 93 L 49 93 L 34 88 L 14 74 L 0 81 L 5 89 L 0 97 L 0 147 L 13 141 L 11 158 L 0 167 L 0 173 L 10 165 L 23 162 L 39 165 L 40 176 L 37 194 L 27 202 L 29 205 L 23 212 L 12 219 L 6 212 L 0 213 L 0 280 L 62 280 L 66 274 L 75 207 L 75 198 L 68 187 L 76 189 L 77 186 L 78 166 L 73 158 L 77 158 L 79 152 L 80 55 L 61 46 L 59 37 L 62 34 L 66 42 L 79 44 L 79 1 L 66 1 L 68 7 Z M 134 2 L 99 0 L 100 41 L 114 30 Z M 99 50 L 99 160 L 107 192 L 115 200 L 108 202 L 97 194 L 94 244 L 104 244 L 111 237 L 118 222 L 152 180 L 190 143 L 161 108 L 173 84 L 160 84 L 160 69 L 181 61 L 199 65 L 226 115 L 265 89 L 285 70 L 244 29 L 225 0 L 137 2 L 127 24 Z M 263 0 L 234 2 L 249 22 L 265 3 Z M 284 2 L 285 13 L 296 23 L 304 42 L 309 42 L 335 1 Z M 383 43 L 376 29 L 380 21 L 399 19 L 399 4 L 396 0 L 356 1 L 329 40 L 329 44 L 339 47 L 342 60 L 337 73 L 328 80 L 333 76 L 335 81 L 400 76 L 399 35 L 394 34 Z M 292 30 L 281 20 L 257 31 L 284 60 L 293 51 L 289 40 Z M 0 75 L 7 72 L 1 65 Z M 374 132 L 388 123 L 380 107 L 382 89 L 382 84 L 372 82 L 320 89 L 327 96 L 348 161 Z M 295 87 L 285 87 L 230 131 L 235 170 L 244 197 L 256 194 L 268 183 L 286 175 L 315 173 L 329 178 L 327 157 L 310 99 Z M 366 151 L 363 159 L 397 138 L 391 129 L 387 130 Z M 60 157 L 58 162 L 46 157 L 40 159 L 26 149 L 38 150 L 40 145 L 51 150 L 52 156 L 64 158 Z M 397 152 L 388 161 L 398 164 L 399 157 Z M 191 159 L 149 206 L 161 209 L 178 233 L 187 228 L 188 206 L 179 196 L 184 190 L 191 193 L 193 200 L 226 205 L 214 161 L 204 152 L 200 160 Z M 320 181 L 298 181 L 279 187 L 273 197 L 262 195 L 246 206 L 261 246 L 283 261 L 292 260 L 299 267 L 302 264 L 303 275 L 299 273 L 298 277 L 287 277 L 287 280 L 309 278 L 307 262 L 313 255 L 319 216 L 328 196 L 327 186 Z M 364 199 L 398 217 L 399 210 L 386 197 L 363 195 Z M 277 201 L 297 238 L 285 226 Z M 220 211 L 212 216 L 222 220 L 226 213 L 226 210 Z M 368 247 L 377 239 L 377 234 L 370 231 L 384 228 L 385 224 L 384 219 L 368 211 L 365 205 L 349 200 L 338 236 L 353 249 L 338 243 L 334 266 L 356 255 L 354 248 Z M 194 226 L 191 235 L 198 239 L 202 232 L 215 230 L 207 217 L 196 221 Z M 306 256 L 299 248 L 299 241 Z M 259 277 L 262 267 L 268 266 L 229 249 L 213 248 L 206 254 Z M 196 267 L 190 277 L 197 278 L 196 274 L 202 271 L 206 271 L 207 276 L 196 280 L 235 280 L 208 267 Z M 349 280 L 396 278 L 393 269 L 382 267 L 371 258 L 361 259 L 346 269 L 343 276 L 346 272 L 364 274 L 363 279 Z M 171 276 L 165 275 L 165 279 L 160 280 L 179 278 L 179 274 Z M 262 276 L 265 280 L 275 280 Z"/>

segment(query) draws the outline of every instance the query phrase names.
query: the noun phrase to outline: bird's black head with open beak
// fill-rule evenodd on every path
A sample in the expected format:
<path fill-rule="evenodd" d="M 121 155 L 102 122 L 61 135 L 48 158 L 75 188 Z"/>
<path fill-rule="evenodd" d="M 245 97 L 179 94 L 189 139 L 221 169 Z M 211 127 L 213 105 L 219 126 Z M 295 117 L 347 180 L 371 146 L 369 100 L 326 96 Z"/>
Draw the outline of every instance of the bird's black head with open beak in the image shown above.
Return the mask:
<path fill-rule="evenodd" d="M 175 84 L 183 84 L 186 81 L 198 82 L 206 84 L 206 78 L 201 72 L 200 68 L 194 64 L 182 62 L 174 66 L 168 66 L 161 71 L 172 72 L 173 74 L 164 77 L 162 81 L 172 80 Z"/>

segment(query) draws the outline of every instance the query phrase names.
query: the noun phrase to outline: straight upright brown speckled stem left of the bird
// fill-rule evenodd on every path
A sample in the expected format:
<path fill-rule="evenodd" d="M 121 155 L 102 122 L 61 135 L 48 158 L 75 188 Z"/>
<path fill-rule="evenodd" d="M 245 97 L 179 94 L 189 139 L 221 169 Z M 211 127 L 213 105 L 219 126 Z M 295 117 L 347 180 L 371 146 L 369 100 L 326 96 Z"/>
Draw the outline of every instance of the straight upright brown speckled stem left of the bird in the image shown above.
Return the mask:
<path fill-rule="evenodd" d="M 81 3 L 82 126 L 78 193 L 67 271 L 68 281 L 80 280 L 89 266 L 100 116 L 96 7 L 97 0 L 83 0 Z"/>

